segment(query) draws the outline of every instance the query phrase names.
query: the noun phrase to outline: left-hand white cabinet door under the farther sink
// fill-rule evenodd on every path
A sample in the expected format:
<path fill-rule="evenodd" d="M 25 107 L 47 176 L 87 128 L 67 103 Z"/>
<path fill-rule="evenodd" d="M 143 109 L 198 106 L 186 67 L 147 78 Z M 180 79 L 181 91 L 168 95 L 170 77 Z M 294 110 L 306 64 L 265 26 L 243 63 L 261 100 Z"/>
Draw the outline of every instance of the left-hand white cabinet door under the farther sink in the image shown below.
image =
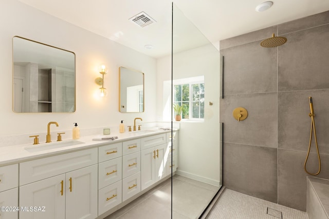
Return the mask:
<path fill-rule="evenodd" d="M 154 147 L 141 151 L 141 190 L 155 183 L 155 157 Z"/>

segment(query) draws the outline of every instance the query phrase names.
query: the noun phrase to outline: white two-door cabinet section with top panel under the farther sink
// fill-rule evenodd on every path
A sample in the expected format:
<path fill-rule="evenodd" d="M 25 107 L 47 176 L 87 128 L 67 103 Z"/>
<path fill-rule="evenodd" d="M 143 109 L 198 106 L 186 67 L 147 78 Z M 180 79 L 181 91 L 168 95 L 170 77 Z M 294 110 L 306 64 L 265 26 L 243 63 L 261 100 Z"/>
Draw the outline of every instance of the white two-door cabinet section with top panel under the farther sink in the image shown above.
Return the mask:
<path fill-rule="evenodd" d="M 166 176 L 166 133 L 141 138 L 141 189 Z M 167 155 L 166 155 L 167 153 Z"/>

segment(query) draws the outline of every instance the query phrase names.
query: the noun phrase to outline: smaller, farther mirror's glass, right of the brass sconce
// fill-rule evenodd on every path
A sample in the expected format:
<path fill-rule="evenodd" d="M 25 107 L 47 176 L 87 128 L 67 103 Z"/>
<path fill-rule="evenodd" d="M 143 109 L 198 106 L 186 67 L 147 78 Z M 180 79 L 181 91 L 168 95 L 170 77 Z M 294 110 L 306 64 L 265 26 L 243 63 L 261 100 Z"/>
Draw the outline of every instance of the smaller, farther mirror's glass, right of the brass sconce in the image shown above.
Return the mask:
<path fill-rule="evenodd" d="M 119 111 L 144 112 L 144 73 L 119 68 Z"/>

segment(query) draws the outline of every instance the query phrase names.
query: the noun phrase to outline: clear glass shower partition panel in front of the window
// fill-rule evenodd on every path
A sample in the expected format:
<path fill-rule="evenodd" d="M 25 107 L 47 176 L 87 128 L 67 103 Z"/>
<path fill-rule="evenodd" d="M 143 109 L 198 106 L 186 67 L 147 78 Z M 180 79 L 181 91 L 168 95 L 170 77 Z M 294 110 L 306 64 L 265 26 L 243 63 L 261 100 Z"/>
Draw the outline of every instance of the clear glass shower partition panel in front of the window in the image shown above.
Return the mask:
<path fill-rule="evenodd" d="M 221 55 L 174 4 L 172 15 L 172 106 L 182 108 L 172 218 L 199 218 L 222 186 Z"/>

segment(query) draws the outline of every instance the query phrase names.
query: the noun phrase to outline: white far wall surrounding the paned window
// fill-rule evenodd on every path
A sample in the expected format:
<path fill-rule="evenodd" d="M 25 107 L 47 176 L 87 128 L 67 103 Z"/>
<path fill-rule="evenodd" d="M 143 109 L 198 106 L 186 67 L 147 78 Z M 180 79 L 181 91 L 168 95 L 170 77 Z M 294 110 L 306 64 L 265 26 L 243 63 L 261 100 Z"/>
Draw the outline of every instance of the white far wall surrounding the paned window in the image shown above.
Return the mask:
<path fill-rule="evenodd" d="M 157 117 L 170 112 L 167 99 L 163 96 L 163 81 L 171 79 L 171 58 L 159 58 L 157 68 Z M 178 174 L 195 178 L 209 184 L 220 181 L 220 54 L 207 46 L 176 53 L 173 56 L 173 78 L 205 76 L 205 121 L 179 122 Z M 168 94 L 168 93 L 167 93 Z M 168 94 L 171 95 L 171 94 Z M 209 102 L 213 105 L 210 106 Z"/>

